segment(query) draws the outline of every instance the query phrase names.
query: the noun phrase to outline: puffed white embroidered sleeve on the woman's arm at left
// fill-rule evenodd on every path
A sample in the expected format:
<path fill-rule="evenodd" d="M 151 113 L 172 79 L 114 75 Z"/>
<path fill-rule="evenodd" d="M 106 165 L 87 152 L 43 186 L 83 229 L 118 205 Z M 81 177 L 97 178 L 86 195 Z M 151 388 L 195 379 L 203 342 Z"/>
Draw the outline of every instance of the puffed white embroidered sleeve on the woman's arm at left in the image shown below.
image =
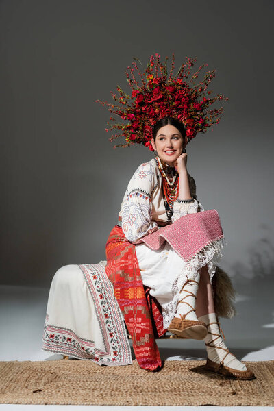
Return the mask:
<path fill-rule="evenodd" d="M 130 242 L 137 242 L 143 236 L 158 229 L 151 221 L 151 194 L 158 184 L 151 162 L 141 164 L 130 180 L 121 206 L 122 229 Z"/>

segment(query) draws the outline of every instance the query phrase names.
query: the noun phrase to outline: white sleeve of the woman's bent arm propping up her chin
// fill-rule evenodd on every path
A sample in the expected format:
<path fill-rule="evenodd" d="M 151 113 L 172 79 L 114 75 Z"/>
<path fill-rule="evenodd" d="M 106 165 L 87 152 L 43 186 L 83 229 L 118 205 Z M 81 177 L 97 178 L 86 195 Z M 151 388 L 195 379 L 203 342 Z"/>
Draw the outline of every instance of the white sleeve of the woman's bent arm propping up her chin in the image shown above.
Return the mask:
<path fill-rule="evenodd" d="M 190 188 L 190 195 L 192 197 L 192 201 L 184 201 L 184 200 L 176 200 L 174 201 L 173 205 L 173 216 L 171 217 L 171 221 L 178 220 L 180 217 L 185 216 L 186 214 L 192 214 L 195 212 L 205 211 L 203 206 L 197 200 L 196 196 L 196 183 L 195 179 L 188 174 L 188 183 Z"/>

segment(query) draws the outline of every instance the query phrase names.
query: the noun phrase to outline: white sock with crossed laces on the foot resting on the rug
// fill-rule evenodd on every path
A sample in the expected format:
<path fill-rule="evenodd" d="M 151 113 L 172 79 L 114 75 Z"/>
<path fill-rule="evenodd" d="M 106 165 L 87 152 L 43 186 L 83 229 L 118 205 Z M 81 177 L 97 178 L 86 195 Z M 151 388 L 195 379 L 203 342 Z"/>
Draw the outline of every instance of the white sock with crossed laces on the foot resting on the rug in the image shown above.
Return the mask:
<path fill-rule="evenodd" d="M 206 327 L 208 328 L 208 335 L 204 340 L 209 360 L 221 366 L 229 367 L 229 369 L 247 371 L 245 364 L 237 360 L 225 345 L 225 337 L 216 314 L 212 313 L 200 316 L 199 321 L 206 323 Z"/>

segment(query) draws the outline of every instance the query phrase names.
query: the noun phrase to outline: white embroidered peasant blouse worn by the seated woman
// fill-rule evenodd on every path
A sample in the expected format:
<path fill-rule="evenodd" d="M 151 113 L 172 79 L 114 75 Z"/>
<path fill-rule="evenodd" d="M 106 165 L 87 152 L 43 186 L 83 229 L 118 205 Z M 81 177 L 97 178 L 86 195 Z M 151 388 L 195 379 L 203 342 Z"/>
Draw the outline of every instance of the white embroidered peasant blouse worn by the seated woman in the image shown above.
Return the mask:
<path fill-rule="evenodd" d="M 193 201 L 186 203 L 184 200 L 175 200 L 172 223 L 186 214 L 204 211 L 196 197 L 195 179 L 190 174 L 188 182 Z M 166 219 L 162 175 L 153 158 L 141 164 L 130 179 L 121 204 L 119 221 L 127 240 L 135 243 L 160 228 L 158 223 L 164 223 Z"/>

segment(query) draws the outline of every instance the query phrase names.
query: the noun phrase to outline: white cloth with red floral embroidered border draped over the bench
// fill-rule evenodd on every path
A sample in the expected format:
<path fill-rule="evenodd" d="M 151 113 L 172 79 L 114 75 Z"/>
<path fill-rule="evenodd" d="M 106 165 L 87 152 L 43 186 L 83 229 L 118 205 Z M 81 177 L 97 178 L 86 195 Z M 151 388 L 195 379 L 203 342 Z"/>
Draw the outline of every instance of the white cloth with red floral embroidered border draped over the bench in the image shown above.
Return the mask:
<path fill-rule="evenodd" d="M 47 303 L 44 351 L 99 365 L 132 364 L 123 314 L 104 265 L 71 264 L 55 273 Z"/>

